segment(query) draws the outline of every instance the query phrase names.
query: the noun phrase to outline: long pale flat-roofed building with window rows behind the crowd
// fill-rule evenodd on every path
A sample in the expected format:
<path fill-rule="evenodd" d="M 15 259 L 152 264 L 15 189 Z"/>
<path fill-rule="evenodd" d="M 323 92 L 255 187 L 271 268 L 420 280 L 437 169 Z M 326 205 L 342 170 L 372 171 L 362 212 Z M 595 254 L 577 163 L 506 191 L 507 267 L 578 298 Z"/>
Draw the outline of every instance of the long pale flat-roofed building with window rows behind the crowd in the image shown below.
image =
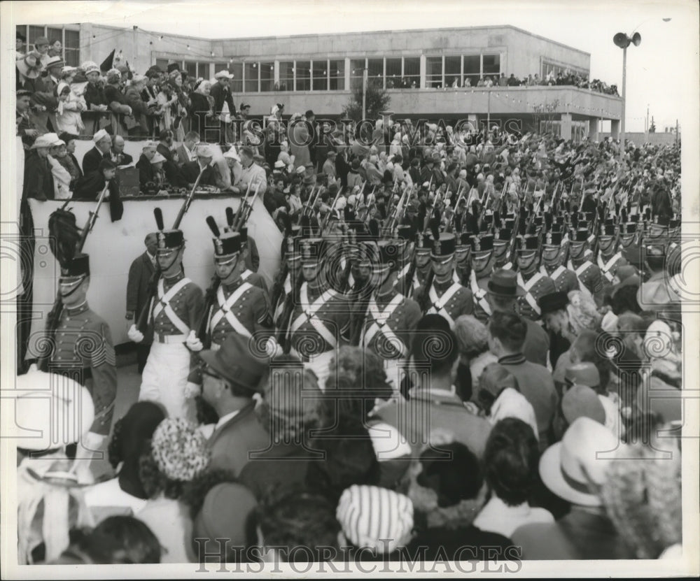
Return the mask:
<path fill-rule="evenodd" d="M 542 78 L 568 69 L 589 76 L 589 53 L 512 26 L 217 40 L 97 24 L 18 29 L 29 43 L 62 35 L 56 37 L 64 38 L 69 64 L 99 63 L 116 49 L 139 72 L 171 62 L 203 78 L 228 69 L 237 106 L 251 104 L 256 117 L 275 103 L 286 113 L 312 109 L 317 117 L 339 117 L 366 70 L 391 95 L 397 118 L 547 127 L 575 140 L 596 138 L 598 122 L 610 120 L 612 134 L 619 134 L 618 96 L 563 86 L 474 87 L 479 77 L 501 74 Z"/>

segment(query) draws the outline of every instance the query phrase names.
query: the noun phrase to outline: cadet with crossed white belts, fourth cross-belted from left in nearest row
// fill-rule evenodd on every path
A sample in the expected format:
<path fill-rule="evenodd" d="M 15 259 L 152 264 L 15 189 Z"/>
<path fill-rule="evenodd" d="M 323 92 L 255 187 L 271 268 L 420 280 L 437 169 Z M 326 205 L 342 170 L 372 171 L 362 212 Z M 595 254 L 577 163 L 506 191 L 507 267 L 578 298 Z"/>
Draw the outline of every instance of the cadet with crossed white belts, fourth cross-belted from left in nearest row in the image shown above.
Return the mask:
<path fill-rule="evenodd" d="M 360 346 L 384 360 L 389 381 L 400 385 L 399 368 L 409 352 L 412 331 L 421 318 L 421 308 L 395 288 L 405 239 L 379 241 L 379 260 L 373 264 L 373 292 L 360 321 Z"/>

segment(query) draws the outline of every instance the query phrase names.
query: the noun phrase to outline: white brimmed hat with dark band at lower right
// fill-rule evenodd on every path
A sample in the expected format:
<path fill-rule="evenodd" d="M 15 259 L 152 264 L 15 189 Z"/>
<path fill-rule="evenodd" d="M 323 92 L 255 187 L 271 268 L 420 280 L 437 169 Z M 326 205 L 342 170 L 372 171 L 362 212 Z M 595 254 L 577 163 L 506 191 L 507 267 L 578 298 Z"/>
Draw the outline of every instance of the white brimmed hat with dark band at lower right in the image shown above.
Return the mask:
<path fill-rule="evenodd" d="M 556 496 L 573 504 L 600 506 L 591 485 L 602 485 L 615 452 L 623 445 L 608 428 L 589 417 L 577 417 L 561 442 L 540 458 L 540 477 Z"/>

